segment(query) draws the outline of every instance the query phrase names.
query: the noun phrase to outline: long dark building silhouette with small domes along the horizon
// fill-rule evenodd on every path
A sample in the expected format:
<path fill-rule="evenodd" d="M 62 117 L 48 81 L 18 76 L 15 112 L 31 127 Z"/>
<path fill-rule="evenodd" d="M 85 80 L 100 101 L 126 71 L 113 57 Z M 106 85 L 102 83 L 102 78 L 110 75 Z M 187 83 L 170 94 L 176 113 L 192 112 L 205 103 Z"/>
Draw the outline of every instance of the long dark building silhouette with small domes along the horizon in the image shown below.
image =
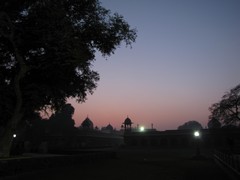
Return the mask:
<path fill-rule="evenodd" d="M 120 147 L 151 147 L 151 148 L 193 148 L 196 138 L 194 130 L 140 130 L 132 127 L 132 120 L 127 118 L 122 123 L 122 129 L 117 131 L 109 123 L 105 127 L 94 128 L 93 121 L 86 117 L 79 128 L 71 134 L 59 134 L 49 131 L 49 122 L 44 120 L 38 126 L 30 129 L 24 136 L 17 136 L 15 147 L 24 142 L 25 152 L 65 153 L 88 148 Z M 139 129 L 138 129 L 139 128 Z M 36 131 L 38 129 L 39 131 Z M 240 153 L 239 128 L 201 129 L 200 145 L 210 149 L 227 149 Z M 20 137 L 23 137 L 20 139 Z M 14 146 L 13 146 L 14 148 Z"/>

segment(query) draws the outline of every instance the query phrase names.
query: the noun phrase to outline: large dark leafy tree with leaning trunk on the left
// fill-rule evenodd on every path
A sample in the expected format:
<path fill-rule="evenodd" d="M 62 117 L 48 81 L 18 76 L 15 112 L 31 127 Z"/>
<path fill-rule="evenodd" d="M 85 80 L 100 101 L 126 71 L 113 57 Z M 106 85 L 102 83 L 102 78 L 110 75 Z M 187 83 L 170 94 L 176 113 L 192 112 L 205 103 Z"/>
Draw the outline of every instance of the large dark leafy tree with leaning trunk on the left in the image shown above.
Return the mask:
<path fill-rule="evenodd" d="M 25 113 L 84 101 L 99 80 L 95 52 L 111 55 L 136 30 L 98 0 L 0 1 L 0 156 Z"/>

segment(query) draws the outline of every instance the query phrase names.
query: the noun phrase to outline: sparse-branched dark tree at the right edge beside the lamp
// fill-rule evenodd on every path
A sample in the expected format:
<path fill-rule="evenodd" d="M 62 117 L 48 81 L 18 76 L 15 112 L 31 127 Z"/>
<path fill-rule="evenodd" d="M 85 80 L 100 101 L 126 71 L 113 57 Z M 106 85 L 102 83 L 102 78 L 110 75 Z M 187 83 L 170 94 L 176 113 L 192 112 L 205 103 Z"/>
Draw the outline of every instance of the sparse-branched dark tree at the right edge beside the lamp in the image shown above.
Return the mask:
<path fill-rule="evenodd" d="M 227 92 L 218 103 L 209 108 L 209 119 L 217 119 L 224 125 L 240 123 L 240 84 Z"/>

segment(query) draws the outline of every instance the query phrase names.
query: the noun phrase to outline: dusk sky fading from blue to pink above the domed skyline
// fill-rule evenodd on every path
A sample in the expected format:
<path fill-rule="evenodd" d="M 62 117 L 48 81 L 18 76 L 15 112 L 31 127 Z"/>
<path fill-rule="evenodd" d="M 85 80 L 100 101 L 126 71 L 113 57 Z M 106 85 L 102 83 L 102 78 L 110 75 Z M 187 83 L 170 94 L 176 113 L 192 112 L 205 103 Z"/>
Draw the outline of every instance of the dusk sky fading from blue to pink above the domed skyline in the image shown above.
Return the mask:
<path fill-rule="evenodd" d="M 196 120 L 206 127 L 211 104 L 240 83 L 239 0 L 100 0 L 138 37 L 111 57 L 96 56 L 98 88 L 77 104 L 76 126 L 177 129 Z"/>

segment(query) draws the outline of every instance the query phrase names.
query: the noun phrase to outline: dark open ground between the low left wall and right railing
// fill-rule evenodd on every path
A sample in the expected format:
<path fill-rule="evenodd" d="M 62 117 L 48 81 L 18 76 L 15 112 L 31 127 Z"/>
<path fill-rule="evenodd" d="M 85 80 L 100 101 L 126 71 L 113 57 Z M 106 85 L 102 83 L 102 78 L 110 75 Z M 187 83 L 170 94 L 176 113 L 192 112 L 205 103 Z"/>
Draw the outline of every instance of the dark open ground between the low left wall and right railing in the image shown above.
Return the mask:
<path fill-rule="evenodd" d="M 227 180 L 210 154 L 195 159 L 193 150 L 121 149 L 116 158 L 89 161 L 82 165 L 51 168 L 17 177 L 14 180 Z"/>

